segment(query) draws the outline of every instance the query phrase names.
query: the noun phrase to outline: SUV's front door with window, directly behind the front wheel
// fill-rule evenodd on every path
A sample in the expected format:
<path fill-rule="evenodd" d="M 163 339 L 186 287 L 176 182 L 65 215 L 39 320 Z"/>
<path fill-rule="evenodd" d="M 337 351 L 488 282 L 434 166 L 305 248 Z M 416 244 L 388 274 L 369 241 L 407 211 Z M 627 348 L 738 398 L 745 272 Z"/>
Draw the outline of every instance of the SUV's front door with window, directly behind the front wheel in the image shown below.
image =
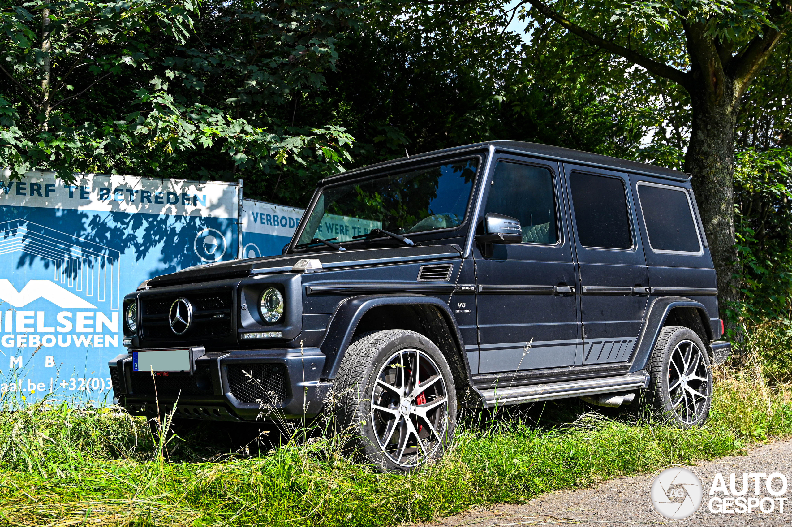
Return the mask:
<path fill-rule="evenodd" d="M 579 346 L 577 268 L 565 223 L 558 163 L 497 158 L 487 212 L 520 220 L 523 242 L 474 249 L 479 374 L 573 366 Z M 486 251 L 484 251 L 486 252 Z"/>

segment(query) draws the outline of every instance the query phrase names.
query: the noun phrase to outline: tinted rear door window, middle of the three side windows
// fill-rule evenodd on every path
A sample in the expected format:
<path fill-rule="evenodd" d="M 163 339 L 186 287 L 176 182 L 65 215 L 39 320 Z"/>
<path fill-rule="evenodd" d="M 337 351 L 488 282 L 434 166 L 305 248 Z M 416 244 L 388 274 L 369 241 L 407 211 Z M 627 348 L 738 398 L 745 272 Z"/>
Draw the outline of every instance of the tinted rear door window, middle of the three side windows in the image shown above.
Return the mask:
<path fill-rule="evenodd" d="M 630 211 L 621 179 L 576 172 L 569 176 L 569 185 L 582 246 L 605 249 L 633 246 Z"/>

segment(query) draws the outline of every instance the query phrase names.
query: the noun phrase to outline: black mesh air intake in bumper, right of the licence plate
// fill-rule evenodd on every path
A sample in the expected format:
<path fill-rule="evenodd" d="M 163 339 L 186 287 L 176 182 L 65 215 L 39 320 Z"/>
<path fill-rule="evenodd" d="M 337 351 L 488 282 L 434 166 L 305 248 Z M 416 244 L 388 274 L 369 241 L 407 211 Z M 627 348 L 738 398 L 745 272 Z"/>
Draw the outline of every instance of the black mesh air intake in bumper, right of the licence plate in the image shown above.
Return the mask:
<path fill-rule="evenodd" d="M 244 403 L 282 403 L 286 399 L 286 367 L 280 364 L 228 365 L 231 393 Z"/>

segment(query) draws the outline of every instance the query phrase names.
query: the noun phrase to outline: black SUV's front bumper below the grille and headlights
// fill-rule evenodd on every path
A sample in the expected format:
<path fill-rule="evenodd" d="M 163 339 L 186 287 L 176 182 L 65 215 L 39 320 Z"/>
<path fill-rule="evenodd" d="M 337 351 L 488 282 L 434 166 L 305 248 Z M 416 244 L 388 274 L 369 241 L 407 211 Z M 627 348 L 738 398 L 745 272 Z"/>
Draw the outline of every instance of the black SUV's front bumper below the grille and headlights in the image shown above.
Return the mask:
<path fill-rule="evenodd" d="M 115 401 L 130 414 L 219 421 L 313 417 L 333 384 L 319 379 L 318 348 L 242 349 L 205 353 L 190 375 L 133 372 L 131 354 L 110 361 Z M 269 414 L 269 415 L 268 415 Z"/>

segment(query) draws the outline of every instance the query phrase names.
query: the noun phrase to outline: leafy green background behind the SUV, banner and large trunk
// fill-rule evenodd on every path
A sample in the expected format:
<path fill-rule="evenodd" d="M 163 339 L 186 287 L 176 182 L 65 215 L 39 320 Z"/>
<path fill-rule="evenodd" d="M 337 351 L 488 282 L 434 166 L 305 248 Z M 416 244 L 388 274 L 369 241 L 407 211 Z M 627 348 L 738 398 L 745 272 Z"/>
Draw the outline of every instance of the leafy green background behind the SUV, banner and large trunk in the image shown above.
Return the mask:
<path fill-rule="evenodd" d="M 645 31 L 636 13 L 592 6 L 575 9 Z M 684 90 L 524 7 L 0 0 L 0 163 L 13 177 L 242 178 L 246 196 L 295 206 L 339 170 L 487 139 L 681 168 Z M 658 38 L 653 52 L 683 67 Z M 735 323 L 792 312 L 790 89 L 785 39 L 738 118 Z"/>

